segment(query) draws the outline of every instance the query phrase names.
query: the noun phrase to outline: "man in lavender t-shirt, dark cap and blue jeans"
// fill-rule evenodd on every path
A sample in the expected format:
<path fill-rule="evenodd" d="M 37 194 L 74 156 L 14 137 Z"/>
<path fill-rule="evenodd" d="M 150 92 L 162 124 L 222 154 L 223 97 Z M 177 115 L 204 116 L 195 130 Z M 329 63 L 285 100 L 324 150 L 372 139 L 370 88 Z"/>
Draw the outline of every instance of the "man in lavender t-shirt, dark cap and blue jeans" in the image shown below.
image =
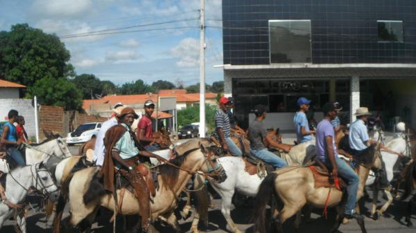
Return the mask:
<path fill-rule="evenodd" d="M 316 156 L 327 165 L 334 180 L 337 180 L 338 176 L 340 176 L 348 184 L 347 203 L 345 203 L 344 210 L 345 218 L 363 219 L 363 216 L 354 212 L 360 178 L 344 160 L 338 158 L 335 146 L 335 132 L 333 131 L 331 120 L 336 117 L 336 109 L 333 103 L 326 103 L 322 106 L 322 111 L 324 112 L 324 120 L 318 124 L 316 129 Z"/>

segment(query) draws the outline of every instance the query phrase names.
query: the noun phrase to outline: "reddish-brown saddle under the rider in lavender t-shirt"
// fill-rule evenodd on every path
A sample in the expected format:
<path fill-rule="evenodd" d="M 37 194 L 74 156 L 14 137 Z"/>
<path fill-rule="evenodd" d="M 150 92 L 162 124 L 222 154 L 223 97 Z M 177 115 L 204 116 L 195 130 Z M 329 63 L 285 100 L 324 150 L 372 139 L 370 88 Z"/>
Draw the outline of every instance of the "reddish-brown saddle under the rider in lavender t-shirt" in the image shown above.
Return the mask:
<path fill-rule="evenodd" d="M 342 178 L 338 178 L 338 181 L 333 180 L 331 174 L 329 174 L 328 167 L 320 160 L 315 159 L 315 165 L 309 166 L 309 168 L 312 171 L 313 180 L 315 180 L 315 189 L 319 187 L 336 187 L 336 189 L 342 190 L 347 187 L 347 183 Z"/>

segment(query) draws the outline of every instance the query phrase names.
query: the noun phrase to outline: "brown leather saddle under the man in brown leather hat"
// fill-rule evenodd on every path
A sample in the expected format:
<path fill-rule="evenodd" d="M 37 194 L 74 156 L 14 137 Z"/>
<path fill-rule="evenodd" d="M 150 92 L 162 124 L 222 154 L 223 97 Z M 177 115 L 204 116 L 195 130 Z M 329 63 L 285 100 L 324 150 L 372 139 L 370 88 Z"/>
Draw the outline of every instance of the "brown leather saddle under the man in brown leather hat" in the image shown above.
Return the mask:
<path fill-rule="evenodd" d="M 156 189 L 159 188 L 157 184 L 157 172 L 152 171 L 142 163 L 136 166 L 136 171 L 144 178 L 150 195 L 155 196 Z M 130 185 L 130 180 L 127 176 L 127 171 L 119 170 L 116 173 L 116 189 L 128 189 L 129 192 L 135 194 L 135 189 L 133 189 L 132 185 Z"/>

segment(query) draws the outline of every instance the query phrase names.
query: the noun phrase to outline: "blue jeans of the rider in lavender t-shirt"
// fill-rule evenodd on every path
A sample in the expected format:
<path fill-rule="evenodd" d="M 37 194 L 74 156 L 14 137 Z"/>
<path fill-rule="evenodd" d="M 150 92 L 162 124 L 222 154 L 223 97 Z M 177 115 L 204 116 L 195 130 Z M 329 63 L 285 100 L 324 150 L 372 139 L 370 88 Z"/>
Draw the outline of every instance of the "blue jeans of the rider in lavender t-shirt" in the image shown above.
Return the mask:
<path fill-rule="evenodd" d="M 360 184 L 360 178 L 355 171 L 347 165 L 347 162 L 338 158 L 335 158 L 336 166 L 338 167 L 338 176 L 347 181 L 347 203 L 345 204 L 345 214 L 352 214 L 357 201 L 358 185 Z"/>

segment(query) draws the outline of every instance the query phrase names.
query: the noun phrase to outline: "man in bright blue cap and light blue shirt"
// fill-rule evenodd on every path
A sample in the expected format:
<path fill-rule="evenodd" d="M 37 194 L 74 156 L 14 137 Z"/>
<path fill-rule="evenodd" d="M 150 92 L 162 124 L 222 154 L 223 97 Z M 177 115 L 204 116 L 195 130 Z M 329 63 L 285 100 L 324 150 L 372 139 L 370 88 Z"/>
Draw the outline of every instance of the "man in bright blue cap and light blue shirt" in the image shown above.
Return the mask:
<path fill-rule="evenodd" d="M 308 118 L 306 118 L 305 114 L 309 110 L 309 104 L 311 104 L 311 100 L 308 100 L 305 97 L 300 97 L 297 100 L 299 111 L 295 113 L 295 117 L 293 118 L 293 122 L 295 123 L 296 129 L 297 143 L 311 141 L 311 134 L 315 133 L 314 130 L 309 130 Z"/>

